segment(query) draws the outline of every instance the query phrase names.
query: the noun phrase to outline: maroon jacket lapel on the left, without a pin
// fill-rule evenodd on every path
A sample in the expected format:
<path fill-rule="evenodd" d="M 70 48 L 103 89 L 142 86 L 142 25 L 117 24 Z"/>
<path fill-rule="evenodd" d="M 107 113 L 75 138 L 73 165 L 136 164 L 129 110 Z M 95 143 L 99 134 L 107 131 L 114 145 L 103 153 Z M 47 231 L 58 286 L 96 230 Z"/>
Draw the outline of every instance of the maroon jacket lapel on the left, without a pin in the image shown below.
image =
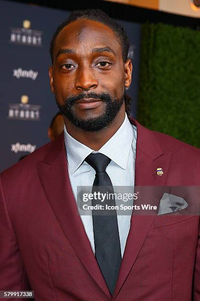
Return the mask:
<path fill-rule="evenodd" d="M 111 298 L 77 210 L 68 175 L 63 134 L 51 144 L 45 159 L 38 162 L 37 169 L 52 211 L 76 255 L 107 297 Z"/>

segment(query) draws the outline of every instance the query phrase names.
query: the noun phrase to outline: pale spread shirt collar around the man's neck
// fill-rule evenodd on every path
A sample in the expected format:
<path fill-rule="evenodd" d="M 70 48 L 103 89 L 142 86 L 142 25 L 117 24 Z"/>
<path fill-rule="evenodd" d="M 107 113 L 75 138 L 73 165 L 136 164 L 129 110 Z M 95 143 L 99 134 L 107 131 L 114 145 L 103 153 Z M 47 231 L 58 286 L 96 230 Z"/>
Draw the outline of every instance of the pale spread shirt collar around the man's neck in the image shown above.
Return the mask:
<path fill-rule="evenodd" d="M 115 163 L 126 169 L 128 154 L 132 145 L 134 129 L 125 113 L 123 121 L 117 132 L 100 148 L 98 152 L 108 156 Z M 68 164 L 73 174 L 84 159 L 94 150 L 75 140 L 64 126 L 65 148 Z M 95 151 L 97 152 L 97 151 Z"/>

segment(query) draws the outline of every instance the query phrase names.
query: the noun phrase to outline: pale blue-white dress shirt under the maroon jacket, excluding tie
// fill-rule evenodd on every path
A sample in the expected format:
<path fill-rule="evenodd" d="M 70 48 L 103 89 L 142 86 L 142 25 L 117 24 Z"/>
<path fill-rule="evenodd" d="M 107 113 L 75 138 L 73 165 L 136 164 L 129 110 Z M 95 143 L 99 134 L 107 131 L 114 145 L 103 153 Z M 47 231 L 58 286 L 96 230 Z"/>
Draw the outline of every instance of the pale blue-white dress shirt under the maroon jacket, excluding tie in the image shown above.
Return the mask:
<path fill-rule="evenodd" d="M 125 113 L 123 121 L 117 132 L 100 148 L 94 151 L 79 141 L 75 140 L 64 127 L 65 147 L 67 152 L 67 162 L 69 178 L 77 202 L 77 186 L 93 186 L 95 180 L 95 170 L 84 161 L 92 152 L 100 152 L 108 156 L 111 161 L 106 168 L 106 172 L 112 182 L 114 192 L 115 186 L 131 186 L 134 189 L 135 181 L 135 157 L 137 129 L 132 125 Z M 117 205 L 117 203 L 116 203 Z M 87 237 L 95 253 L 93 219 L 92 214 L 80 215 Z M 130 230 L 130 212 L 128 215 L 118 214 L 117 220 L 121 244 L 122 257 L 125 251 L 125 243 Z"/>

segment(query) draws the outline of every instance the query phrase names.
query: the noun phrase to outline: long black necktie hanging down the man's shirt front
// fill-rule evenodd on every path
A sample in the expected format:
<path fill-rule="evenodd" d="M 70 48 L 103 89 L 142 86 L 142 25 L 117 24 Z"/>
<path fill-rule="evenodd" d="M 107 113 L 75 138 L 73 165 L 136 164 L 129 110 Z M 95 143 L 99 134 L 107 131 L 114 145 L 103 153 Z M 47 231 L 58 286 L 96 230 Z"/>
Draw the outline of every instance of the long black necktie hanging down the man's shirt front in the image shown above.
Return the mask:
<path fill-rule="evenodd" d="M 114 193 L 112 182 L 105 171 L 111 159 L 102 153 L 91 153 L 85 161 L 96 171 L 92 193 Z M 98 204 L 104 206 L 104 211 L 92 211 L 95 256 L 110 293 L 113 295 L 122 256 L 116 210 L 105 211 L 105 206 L 115 206 L 115 198 L 105 198 L 102 203 L 100 200 L 92 200 L 92 206 Z"/>

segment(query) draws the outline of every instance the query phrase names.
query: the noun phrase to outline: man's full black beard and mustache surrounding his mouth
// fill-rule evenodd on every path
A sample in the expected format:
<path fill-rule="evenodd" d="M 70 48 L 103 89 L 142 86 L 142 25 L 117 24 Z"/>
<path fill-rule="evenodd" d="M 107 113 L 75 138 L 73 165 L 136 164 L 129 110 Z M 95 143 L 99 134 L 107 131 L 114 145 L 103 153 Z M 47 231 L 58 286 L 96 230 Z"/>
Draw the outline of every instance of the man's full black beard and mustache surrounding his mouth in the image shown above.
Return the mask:
<path fill-rule="evenodd" d="M 74 103 L 82 98 L 95 98 L 100 99 L 105 102 L 105 109 L 103 113 L 94 118 L 87 118 L 81 119 L 77 117 L 74 110 Z M 55 97 L 56 100 L 56 97 Z M 56 100 L 57 106 L 60 112 L 71 121 L 76 127 L 81 128 L 86 131 L 100 131 L 101 129 L 108 126 L 116 117 L 117 113 L 119 112 L 120 108 L 123 105 L 125 100 L 125 90 L 121 98 L 119 99 L 112 99 L 110 94 L 108 93 L 81 93 L 77 96 L 71 96 L 66 98 L 65 103 L 63 105 L 59 104 Z M 88 109 L 92 110 L 92 109 Z"/>

